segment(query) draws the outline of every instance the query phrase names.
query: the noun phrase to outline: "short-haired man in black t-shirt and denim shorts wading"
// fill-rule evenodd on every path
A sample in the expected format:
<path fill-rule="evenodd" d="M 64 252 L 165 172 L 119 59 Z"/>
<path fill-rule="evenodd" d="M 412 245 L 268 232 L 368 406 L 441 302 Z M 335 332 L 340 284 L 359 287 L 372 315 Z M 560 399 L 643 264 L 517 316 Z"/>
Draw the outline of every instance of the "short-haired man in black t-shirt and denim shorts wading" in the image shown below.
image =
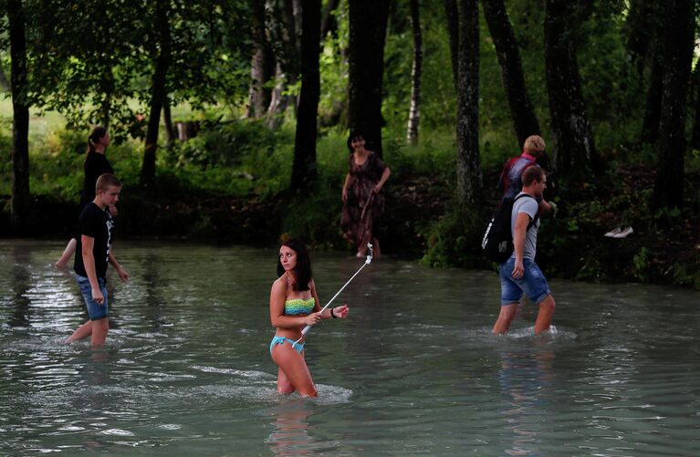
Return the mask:
<path fill-rule="evenodd" d="M 119 201 L 121 182 L 105 173 L 98 178 L 95 188 L 95 199 L 80 213 L 80 237 L 74 263 L 80 293 L 88 306 L 89 321 L 78 327 L 68 342 L 91 337 L 93 345 L 103 345 L 110 329 L 105 287 L 107 264 L 114 266 L 124 283 L 129 274 L 110 253 L 114 222 L 109 207 Z"/>

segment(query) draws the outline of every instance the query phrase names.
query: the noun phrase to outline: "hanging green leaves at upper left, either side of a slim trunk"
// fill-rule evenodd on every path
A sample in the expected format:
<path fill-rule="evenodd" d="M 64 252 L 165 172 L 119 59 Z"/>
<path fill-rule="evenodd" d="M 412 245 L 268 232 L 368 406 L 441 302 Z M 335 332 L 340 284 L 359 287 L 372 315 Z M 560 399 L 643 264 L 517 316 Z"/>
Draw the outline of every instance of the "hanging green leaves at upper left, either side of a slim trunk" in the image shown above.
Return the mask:
<path fill-rule="evenodd" d="M 29 99 L 64 115 L 69 128 L 109 122 L 116 140 L 143 136 L 137 113 L 151 100 L 154 62 L 162 49 L 156 2 L 25 2 Z M 249 3 L 204 0 L 168 4 L 171 45 L 167 90 L 172 104 L 193 107 L 246 97 Z"/>

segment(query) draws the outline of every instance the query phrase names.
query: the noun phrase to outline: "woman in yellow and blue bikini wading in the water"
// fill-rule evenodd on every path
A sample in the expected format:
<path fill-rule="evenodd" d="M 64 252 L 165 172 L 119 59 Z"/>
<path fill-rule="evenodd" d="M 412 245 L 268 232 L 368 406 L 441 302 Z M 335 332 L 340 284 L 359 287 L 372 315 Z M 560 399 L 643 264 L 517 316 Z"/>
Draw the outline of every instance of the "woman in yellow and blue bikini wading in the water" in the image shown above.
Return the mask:
<path fill-rule="evenodd" d="M 272 327 L 277 327 L 270 343 L 270 355 L 279 367 L 277 391 L 296 390 L 302 396 L 316 397 L 316 386 L 304 360 L 305 341 L 295 341 L 302 337 L 304 327 L 321 319 L 348 317 L 349 307 L 341 305 L 320 312 L 311 261 L 306 246 L 298 240 L 291 239 L 280 246 L 277 275 L 270 291 L 270 321 Z"/>

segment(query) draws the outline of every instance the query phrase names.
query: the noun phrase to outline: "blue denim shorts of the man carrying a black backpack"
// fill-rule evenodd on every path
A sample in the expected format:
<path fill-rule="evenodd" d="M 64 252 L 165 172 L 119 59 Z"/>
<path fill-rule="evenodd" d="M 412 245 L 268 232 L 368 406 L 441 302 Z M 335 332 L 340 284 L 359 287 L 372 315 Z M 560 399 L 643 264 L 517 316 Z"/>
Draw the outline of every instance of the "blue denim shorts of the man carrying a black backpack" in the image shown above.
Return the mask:
<path fill-rule="evenodd" d="M 538 265 L 529 260 L 523 260 L 524 274 L 513 278 L 513 265 L 516 263 L 515 257 L 510 257 L 501 264 L 499 275 L 501 276 L 501 306 L 507 306 L 520 301 L 520 297 L 525 293 L 530 300 L 538 304 L 549 294 L 549 286 L 545 275 L 539 270 Z"/>

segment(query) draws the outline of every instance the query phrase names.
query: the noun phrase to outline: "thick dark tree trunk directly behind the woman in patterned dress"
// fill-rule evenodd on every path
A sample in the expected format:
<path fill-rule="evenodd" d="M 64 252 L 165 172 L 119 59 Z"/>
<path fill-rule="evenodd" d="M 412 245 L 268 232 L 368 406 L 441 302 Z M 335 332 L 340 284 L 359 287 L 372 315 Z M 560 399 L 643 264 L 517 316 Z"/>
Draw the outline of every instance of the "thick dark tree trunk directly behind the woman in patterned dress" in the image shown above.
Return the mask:
<path fill-rule="evenodd" d="M 349 127 L 381 157 L 381 82 L 389 0 L 350 0 Z"/>

